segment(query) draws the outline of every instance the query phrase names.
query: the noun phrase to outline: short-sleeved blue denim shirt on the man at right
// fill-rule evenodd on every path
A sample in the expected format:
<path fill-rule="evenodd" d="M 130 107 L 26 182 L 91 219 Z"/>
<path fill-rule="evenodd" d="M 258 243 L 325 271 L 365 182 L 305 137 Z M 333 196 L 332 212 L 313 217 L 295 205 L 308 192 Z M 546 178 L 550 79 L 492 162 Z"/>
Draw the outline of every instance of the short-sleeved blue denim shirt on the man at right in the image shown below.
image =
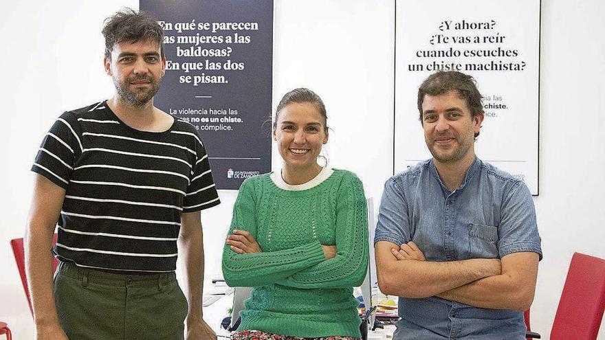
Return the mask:
<path fill-rule="evenodd" d="M 445 188 L 432 159 L 391 177 L 380 203 L 378 241 L 414 241 L 428 261 L 503 258 L 520 251 L 542 259 L 527 186 L 478 158 L 454 192 Z M 394 340 L 525 339 L 519 310 L 477 308 L 439 297 L 399 297 L 399 317 Z"/>

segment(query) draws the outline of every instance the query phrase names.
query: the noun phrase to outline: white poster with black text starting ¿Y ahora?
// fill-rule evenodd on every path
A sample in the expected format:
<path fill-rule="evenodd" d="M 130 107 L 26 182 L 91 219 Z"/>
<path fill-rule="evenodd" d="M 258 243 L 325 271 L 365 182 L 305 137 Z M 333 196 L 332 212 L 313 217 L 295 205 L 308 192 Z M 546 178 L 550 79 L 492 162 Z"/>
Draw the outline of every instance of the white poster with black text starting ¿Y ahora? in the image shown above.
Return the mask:
<path fill-rule="evenodd" d="M 395 173 L 431 157 L 417 91 L 431 73 L 475 78 L 485 120 L 475 144 L 483 161 L 538 194 L 539 0 L 397 0 Z"/>

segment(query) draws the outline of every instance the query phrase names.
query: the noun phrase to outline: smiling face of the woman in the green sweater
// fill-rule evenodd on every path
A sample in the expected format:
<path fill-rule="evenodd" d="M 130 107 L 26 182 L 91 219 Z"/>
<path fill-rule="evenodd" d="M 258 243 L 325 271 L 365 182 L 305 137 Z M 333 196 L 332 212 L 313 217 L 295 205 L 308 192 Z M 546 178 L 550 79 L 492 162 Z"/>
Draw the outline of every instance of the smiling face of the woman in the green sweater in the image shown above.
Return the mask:
<path fill-rule="evenodd" d="M 285 168 L 313 172 L 320 168 L 317 157 L 328 142 L 325 119 L 311 103 L 290 103 L 278 112 L 273 128 Z"/>

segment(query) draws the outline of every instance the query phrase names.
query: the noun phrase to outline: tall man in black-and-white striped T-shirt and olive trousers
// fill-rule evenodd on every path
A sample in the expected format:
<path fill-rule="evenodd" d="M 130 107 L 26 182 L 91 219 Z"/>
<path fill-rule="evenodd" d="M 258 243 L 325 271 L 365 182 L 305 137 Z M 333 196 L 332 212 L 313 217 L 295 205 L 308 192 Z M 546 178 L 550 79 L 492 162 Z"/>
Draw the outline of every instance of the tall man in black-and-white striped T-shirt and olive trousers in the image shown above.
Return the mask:
<path fill-rule="evenodd" d="M 32 166 L 25 257 L 36 339 L 216 339 L 202 319 L 200 211 L 219 198 L 195 127 L 153 106 L 162 27 L 124 10 L 103 35 L 115 95 L 63 113 Z"/>

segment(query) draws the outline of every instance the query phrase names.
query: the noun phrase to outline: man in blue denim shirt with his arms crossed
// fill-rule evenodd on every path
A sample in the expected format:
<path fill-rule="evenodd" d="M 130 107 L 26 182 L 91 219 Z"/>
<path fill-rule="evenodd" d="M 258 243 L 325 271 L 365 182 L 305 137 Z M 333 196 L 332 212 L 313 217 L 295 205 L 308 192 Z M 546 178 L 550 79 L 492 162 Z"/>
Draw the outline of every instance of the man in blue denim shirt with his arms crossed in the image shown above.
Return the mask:
<path fill-rule="evenodd" d="M 432 74 L 418 109 L 433 158 L 386 182 L 374 239 L 380 290 L 399 296 L 394 339 L 525 339 L 542 257 L 531 194 L 475 156 L 471 76 Z"/>

